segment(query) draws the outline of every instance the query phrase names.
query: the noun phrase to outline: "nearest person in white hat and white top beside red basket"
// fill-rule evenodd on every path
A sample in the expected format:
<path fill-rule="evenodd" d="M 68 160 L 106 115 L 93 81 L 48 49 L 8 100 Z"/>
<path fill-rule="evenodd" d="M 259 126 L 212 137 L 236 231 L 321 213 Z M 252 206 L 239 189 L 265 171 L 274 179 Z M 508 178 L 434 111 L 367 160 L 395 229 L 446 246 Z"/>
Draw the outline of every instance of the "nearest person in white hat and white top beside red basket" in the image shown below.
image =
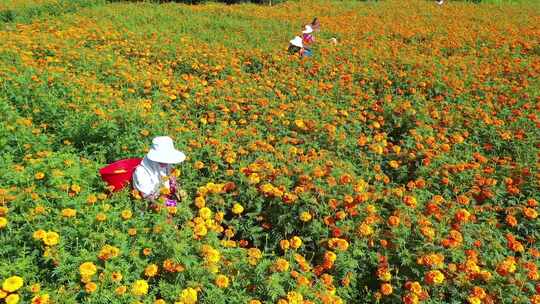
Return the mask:
<path fill-rule="evenodd" d="M 176 201 L 170 199 L 177 191 L 176 177 L 171 174 L 172 165 L 179 164 L 186 155 L 174 148 L 173 140 L 168 136 L 158 136 L 152 140 L 150 151 L 133 173 L 133 186 L 142 197 L 154 202 L 160 197 L 163 188 L 170 195 L 166 198 L 167 206 L 175 206 Z"/>

